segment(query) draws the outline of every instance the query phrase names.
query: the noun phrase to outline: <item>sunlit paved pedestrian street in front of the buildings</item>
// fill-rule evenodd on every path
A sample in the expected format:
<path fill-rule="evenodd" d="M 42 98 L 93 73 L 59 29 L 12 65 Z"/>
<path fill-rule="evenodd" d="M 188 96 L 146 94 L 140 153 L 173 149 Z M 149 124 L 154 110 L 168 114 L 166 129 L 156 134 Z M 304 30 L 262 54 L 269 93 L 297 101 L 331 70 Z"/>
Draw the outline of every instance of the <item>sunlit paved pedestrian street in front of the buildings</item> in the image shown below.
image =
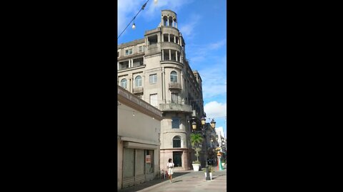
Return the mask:
<path fill-rule="evenodd" d="M 226 166 L 224 166 L 224 171 L 218 171 L 217 166 L 214 168 L 215 172 L 212 173 L 212 181 L 205 180 L 204 171 L 179 171 L 174 172 L 173 183 L 170 183 L 169 178 L 155 179 L 120 191 L 227 191 Z"/>

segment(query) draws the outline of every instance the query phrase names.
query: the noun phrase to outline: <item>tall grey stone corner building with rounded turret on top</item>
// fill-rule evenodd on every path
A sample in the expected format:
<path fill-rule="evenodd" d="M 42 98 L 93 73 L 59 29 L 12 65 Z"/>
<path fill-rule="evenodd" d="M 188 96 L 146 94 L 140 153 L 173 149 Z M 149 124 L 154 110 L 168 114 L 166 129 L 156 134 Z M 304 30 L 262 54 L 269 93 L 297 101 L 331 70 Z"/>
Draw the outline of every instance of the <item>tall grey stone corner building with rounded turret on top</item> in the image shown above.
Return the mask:
<path fill-rule="evenodd" d="M 185 46 L 177 14 L 170 10 L 161 11 L 161 23 L 144 38 L 118 46 L 118 85 L 162 112 L 160 169 L 164 170 L 169 158 L 175 169 L 192 169 L 191 124 L 206 117 L 202 78 L 190 68 Z"/>

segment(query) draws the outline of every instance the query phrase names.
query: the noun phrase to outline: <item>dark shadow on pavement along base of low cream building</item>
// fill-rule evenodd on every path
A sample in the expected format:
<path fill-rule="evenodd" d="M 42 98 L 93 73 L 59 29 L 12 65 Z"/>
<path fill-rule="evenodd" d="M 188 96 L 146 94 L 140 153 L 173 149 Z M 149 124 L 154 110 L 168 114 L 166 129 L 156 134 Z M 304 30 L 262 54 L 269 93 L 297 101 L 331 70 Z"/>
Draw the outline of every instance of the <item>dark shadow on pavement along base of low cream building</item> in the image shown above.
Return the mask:
<path fill-rule="evenodd" d="M 185 174 L 189 174 L 189 171 L 187 171 L 187 172 L 174 172 L 173 177 L 172 177 L 173 183 L 182 181 L 182 180 L 174 181 L 174 178 L 177 178 L 177 177 L 185 175 Z M 141 184 L 138 184 L 136 186 L 130 186 L 130 187 L 127 187 L 127 188 L 123 188 L 123 189 L 118 190 L 118 191 L 119 192 L 140 191 L 140 190 L 142 190 L 144 188 L 148 188 L 148 187 L 154 186 L 154 185 L 156 185 L 158 183 L 162 183 L 164 181 L 169 182 L 169 178 L 168 177 L 166 177 L 165 179 L 164 178 L 156 178 L 156 179 L 154 179 L 152 181 L 141 183 Z"/>

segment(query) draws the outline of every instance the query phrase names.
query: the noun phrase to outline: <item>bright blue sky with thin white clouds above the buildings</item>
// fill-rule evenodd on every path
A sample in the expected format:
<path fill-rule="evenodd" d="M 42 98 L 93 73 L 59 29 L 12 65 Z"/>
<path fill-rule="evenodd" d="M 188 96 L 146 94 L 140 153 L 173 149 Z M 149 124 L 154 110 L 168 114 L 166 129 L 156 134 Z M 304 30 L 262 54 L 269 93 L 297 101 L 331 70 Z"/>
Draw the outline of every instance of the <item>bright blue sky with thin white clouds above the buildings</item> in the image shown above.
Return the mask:
<path fill-rule="evenodd" d="M 141 9 L 146 0 L 118 0 L 118 35 Z M 207 122 L 227 130 L 227 2 L 226 0 L 149 0 L 131 28 L 118 43 L 144 38 L 144 32 L 159 26 L 161 10 L 177 14 L 179 31 L 186 42 L 186 55 L 192 70 L 202 77 L 204 110 Z M 211 119 L 209 119 L 211 118 Z M 225 133 L 226 134 L 226 133 Z"/>

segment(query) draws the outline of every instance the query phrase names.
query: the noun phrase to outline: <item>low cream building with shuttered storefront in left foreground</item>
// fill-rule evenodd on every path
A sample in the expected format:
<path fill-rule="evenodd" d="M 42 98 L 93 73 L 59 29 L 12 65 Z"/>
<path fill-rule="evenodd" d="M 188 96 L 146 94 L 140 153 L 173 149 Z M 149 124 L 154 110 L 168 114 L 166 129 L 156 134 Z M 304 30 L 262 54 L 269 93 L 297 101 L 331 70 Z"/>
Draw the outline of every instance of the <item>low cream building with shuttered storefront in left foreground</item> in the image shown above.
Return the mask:
<path fill-rule="evenodd" d="M 159 175 L 161 119 L 160 110 L 118 87 L 118 189 Z"/>

